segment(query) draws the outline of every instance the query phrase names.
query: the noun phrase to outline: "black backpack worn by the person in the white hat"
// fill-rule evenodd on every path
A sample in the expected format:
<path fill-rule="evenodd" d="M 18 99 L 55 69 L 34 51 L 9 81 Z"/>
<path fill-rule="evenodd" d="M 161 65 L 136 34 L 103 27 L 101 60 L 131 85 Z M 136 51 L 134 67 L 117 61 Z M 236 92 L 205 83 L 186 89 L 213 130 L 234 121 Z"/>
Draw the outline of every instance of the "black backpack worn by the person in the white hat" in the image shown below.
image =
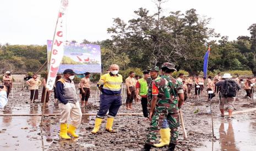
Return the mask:
<path fill-rule="evenodd" d="M 235 97 L 237 91 L 237 84 L 234 80 L 225 80 L 222 95 L 225 97 Z"/>

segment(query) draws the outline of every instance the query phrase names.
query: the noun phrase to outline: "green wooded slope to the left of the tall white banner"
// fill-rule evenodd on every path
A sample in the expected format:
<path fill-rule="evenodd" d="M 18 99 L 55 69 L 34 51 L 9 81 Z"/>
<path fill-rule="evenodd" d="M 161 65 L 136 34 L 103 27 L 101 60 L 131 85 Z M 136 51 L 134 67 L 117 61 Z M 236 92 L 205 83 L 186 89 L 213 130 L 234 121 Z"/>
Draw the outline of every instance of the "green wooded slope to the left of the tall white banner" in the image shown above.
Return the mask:
<path fill-rule="evenodd" d="M 0 45 L 0 72 L 37 71 L 46 61 L 46 45 Z M 34 61 L 34 62 L 32 62 Z"/>

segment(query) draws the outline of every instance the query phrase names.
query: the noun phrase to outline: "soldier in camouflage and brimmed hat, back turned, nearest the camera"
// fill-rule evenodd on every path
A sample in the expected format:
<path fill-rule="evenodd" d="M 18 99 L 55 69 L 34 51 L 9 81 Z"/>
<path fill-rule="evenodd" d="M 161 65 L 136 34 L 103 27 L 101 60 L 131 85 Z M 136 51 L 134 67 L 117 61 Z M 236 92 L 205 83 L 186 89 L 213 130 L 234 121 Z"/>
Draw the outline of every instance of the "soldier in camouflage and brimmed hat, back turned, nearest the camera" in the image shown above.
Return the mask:
<path fill-rule="evenodd" d="M 171 74 L 176 71 L 172 63 L 162 65 L 161 78 L 156 79 L 152 84 L 152 100 L 150 109 L 150 132 L 146 137 L 143 150 L 150 150 L 156 140 L 156 134 L 166 118 L 171 129 L 171 138 L 168 150 L 174 150 L 178 139 L 179 107 L 184 101 L 182 83 L 178 82 Z M 179 97 L 179 100 L 178 100 Z M 180 102 L 179 102 L 180 101 Z"/>

